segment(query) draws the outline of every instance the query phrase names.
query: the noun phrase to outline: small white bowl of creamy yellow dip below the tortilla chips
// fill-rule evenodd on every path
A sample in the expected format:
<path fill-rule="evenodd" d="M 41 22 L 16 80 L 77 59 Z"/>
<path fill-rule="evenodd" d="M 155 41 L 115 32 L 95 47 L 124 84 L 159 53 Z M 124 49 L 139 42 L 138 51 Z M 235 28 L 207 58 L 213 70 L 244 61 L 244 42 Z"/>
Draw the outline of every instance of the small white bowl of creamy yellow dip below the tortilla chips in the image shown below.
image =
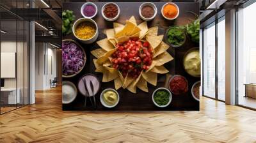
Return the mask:
<path fill-rule="evenodd" d="M 119 94 L 115 89 L 105 89 L 100 94 L 100 102 L 104 107 L 113 108 L 119 102 Z"/>

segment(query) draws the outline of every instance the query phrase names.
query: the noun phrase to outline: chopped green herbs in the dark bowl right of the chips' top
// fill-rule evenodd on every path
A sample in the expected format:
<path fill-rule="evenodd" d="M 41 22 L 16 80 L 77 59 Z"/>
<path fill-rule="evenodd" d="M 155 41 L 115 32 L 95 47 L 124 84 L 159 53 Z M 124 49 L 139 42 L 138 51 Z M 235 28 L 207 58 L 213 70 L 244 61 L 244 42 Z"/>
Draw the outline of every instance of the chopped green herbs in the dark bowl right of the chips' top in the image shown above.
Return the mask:
<path fill-rule="evenodd" d="M 185 34 L 179 27 L 171 27 L 167 33 L 168 42 L 175 46 L 180 46 L 185 40 Z"/>

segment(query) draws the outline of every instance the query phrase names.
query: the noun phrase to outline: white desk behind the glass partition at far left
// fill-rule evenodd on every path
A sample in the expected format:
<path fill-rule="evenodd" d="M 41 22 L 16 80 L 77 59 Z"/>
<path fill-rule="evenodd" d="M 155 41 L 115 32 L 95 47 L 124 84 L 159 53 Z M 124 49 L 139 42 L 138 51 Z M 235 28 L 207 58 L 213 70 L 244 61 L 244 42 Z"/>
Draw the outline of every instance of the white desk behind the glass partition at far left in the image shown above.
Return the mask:
<path fill-rule="evenodd" d="M 1 89 L 1 100 L 4 99 L 6 104 L 17 104 L 20 103 L 20 89 L 17 88 L 17 97 L 16 97 L 16 88 L 3 88 Z M 8 100 L 6 99 L 8 98 Z M 8 101 L 8 102 L 7 102 Z"/>

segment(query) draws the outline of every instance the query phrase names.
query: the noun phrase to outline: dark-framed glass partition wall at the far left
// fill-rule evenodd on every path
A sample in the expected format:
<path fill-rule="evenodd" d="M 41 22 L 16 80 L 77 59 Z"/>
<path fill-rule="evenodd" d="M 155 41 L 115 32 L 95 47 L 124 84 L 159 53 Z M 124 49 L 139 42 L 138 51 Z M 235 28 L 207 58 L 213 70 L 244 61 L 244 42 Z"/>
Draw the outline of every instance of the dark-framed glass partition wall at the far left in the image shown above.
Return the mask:
<path fill-rule="evenodd" d="M 0 2 L 0 114 L 29 104 L 29 22 Z M 24 1 L 12 1 L 24 8 Z M 16 9 L 17 10 L 17 9 Z"/>

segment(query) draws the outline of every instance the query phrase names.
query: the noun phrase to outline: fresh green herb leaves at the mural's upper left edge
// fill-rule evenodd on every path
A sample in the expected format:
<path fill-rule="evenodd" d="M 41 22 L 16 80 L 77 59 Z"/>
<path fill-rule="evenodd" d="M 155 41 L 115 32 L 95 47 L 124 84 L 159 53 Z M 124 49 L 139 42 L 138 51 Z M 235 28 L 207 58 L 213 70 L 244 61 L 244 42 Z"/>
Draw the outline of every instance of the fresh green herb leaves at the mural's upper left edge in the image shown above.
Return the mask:
<path fill-rule="evenodd" d="M 73 11 L 65 10 L 62 12 L 62 34 L 70 34 L 72 32 L 73 22 L 75 20 Z"/>

